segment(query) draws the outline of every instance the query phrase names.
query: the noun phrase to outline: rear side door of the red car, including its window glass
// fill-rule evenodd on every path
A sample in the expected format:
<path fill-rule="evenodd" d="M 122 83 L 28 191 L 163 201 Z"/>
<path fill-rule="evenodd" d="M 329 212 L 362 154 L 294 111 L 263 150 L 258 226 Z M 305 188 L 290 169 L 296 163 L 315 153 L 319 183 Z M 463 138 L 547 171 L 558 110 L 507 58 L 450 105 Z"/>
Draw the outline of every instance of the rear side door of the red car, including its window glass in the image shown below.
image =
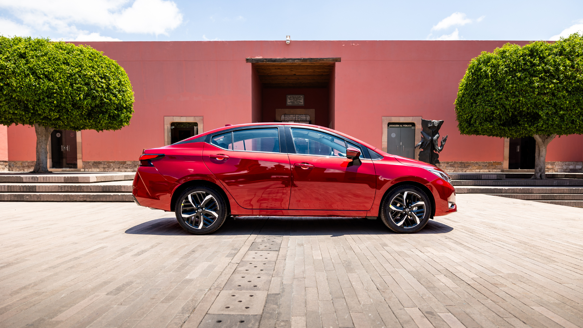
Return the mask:
<path fill-rule="evenodd" d="M 213 135 L 202 158 L 244 208 L 287 210 L 291 173 L 280 152 L 279 128 L 250 128 Z"/>

